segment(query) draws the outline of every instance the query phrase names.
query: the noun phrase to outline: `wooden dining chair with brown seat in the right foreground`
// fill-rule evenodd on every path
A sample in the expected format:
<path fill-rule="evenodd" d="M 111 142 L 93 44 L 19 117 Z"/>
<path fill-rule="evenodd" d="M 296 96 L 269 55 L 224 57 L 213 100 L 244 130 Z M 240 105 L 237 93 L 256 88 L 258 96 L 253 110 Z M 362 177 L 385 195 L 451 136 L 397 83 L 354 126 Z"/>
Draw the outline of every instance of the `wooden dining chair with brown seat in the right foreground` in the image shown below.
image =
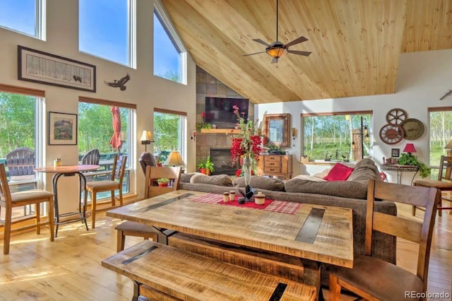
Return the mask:
<path fill-rule="evenodd" d="M 441 191 L 432 187 L 416 187 L 369 180 L 364 255 L 355 255 L 353 268 L 330 268 L 328 300 L 340 300 L 345 288 L 365 300 L 404 300 L 406 292 L 427 291 L 430 247 L 432 244 L 436 207 Z M 422 206 L 424 219 L 403 218 L 374 211 L 374 202 Z M 416 273 L 371 256 L 374 232 L 383 232 L 419 244 Z"/>

